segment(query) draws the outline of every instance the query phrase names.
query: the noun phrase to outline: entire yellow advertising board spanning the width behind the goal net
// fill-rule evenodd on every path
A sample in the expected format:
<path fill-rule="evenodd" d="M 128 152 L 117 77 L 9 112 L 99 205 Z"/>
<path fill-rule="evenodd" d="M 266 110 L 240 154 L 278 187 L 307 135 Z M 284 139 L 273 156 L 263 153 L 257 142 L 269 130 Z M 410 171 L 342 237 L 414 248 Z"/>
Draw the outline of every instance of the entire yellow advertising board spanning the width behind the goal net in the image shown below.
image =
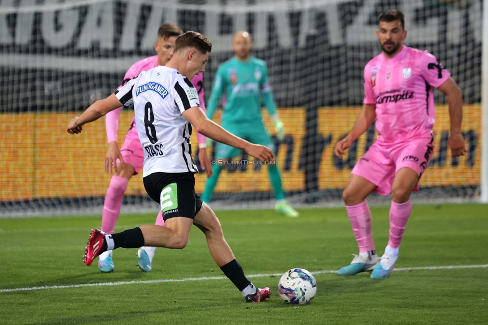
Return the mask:
<path fill-rule="evenodd" d="M 319 188 L 343 188 L 355 161 L 377 135 L 373 128 L 356 143 L 355 153 L 346 152 L 343 160 L 333 155 L 337 140 L 352 127 L 360 107 L 330 107 L 318 111 L 318 132 L 323 150 L 319 167 Z M 220 112 L 214 120 L 220 121 Z M 305 112 L 303 108 L 278 110 L 284 123 L 285 140 L 280 143 L 277 165 L 284 190 L 303 190 L 304 172 L 298 168 Z M 83 127 L 81 134 L 65 130 L 73 113 L 0 114 L 0 201 L 35 198 L 104 196 L 110 175 L 104 171 L 106 153 L 105 120 Z M 122 144 L 133 113 L 124 110 L 119 118 L 118 142 Z M 272 121 L 263 110 L 264 123 L 274 134 Z M 452 159 L 447 148 L 449 114 L 446 105 L 436 106 L 434 153 L 421 186 L 476 185 L 480 182 L 481 106 L 464 105 L 462 131 L 468 152 Z M 191 135 L 196 157 L 196 135 Z M 212 156 L 211 148 L 207 148 Z M 239 157 L 236 157 L 239 159 Z M 260 167 L 260 168 L 259 168 Z M 226 166 L 220 174 L 217 192 L 271 191 L 266 166 Z M 201 193 L 205 174 L 195 176 L 196 192 Z M 142 177 L 132 177 L 127 195 L 145 194 Z"/>

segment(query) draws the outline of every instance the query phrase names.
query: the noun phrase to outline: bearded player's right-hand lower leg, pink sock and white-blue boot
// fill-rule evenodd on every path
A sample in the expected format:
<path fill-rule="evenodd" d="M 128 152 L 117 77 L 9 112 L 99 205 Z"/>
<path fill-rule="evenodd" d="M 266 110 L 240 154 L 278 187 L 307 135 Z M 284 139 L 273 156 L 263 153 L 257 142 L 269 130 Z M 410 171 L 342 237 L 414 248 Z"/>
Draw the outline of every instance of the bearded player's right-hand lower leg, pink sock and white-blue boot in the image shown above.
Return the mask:
<path fill-rule="evenodd" d="M 406 221 L 408 221 L 411 210 L 412 205 L 410 200 L 404 203 L 391 201 L 389 211 L 389 240 L 386 248 L 384 248 L 384 254 L 380 257 L 379 264 L 371 273 L 372 278 L 388 277 L 393 270 L 398 259 L 401 238 L 403 237 Z"/>

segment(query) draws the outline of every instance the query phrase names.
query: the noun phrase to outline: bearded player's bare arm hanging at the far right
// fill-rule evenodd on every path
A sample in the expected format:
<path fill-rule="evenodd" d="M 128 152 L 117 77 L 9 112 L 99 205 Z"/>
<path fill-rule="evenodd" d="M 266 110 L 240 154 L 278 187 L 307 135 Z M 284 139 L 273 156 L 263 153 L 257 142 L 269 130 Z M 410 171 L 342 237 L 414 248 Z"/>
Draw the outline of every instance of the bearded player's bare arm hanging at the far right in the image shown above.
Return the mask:
<path fill-rule="evenodd" d="M 462 93 L 452 77 L 445 80 L 438 89 L 447 95 L 450 117 L 450 136 L 447 144 L 453 157 L 466 153 L 464 137 L 461 134 Z"/>

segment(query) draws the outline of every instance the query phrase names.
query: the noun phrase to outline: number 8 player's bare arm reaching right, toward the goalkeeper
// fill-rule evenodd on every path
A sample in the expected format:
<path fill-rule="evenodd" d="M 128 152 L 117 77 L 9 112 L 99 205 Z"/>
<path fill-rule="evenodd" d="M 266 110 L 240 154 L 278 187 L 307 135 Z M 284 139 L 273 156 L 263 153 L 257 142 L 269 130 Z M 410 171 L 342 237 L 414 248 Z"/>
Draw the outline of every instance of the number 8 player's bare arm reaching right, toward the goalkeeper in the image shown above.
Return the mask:
<path fill-rule="evenodd" d="M 227 132 L 223 127 L 208 119 L 200 107 L 191 107 L 183 112 L 186 118 L 195 129 L 201 134 L 212 138 L 215 141 L 225 143 L 244 150 L 253 157 L 260 160 L 272 160 L 274 158 L 271 149 L 258 144 L 252 144 L 232 133 Z"/>

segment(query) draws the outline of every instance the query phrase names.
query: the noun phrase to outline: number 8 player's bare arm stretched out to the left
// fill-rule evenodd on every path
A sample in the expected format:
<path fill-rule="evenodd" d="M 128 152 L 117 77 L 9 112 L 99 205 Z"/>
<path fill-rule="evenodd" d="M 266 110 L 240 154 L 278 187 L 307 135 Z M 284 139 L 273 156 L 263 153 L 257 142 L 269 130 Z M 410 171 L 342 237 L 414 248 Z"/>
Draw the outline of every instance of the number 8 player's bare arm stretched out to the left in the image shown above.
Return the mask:
<path fill-rule="evenodd" d="M 114 93 L 92 103 L 86 110 L 78 117 L 74 117 L 68 124 L 67 131 L 69 134 L 77 134 L 81 132 L 82 126 L 86 123 L 97 120 L 111 110 L 120 107 L 122 104 L 117 99 Z"/>

